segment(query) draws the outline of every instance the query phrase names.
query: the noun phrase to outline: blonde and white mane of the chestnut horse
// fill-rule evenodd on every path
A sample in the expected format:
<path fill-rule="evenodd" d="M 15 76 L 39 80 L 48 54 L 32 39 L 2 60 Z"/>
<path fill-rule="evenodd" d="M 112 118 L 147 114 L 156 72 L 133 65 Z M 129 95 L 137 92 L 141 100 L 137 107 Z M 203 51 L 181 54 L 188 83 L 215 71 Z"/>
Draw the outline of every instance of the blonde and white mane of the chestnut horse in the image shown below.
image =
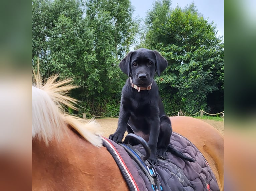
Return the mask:
<path fill-rule="evenodd" d="M 67 126 L 76 129 L 86 140 L 95 146 L 102 146 L 99 136 L 99 124 L 94 120 L 85 120 L 65 114 L 63 105 L 76 109 L 77 100 L 67 93 L 77 88 L 72 79 L 57 81 L 58 76 L 51 76 L 45 83 L 39 73 L 34 73 L 35 83 L 32 86 L 32 139 L 38 137 L 46 145 L 53 139 L 60 140 Z"/>

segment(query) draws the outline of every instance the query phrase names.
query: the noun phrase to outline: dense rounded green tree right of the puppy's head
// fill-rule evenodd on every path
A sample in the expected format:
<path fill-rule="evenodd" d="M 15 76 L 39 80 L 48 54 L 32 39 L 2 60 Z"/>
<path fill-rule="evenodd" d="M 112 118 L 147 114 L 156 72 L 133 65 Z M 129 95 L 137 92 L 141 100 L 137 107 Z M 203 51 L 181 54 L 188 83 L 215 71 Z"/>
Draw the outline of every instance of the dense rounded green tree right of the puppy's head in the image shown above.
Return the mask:
<path fill-rule="evenodd" d="M 223 95 L 223 40 L 216 37 L 216 26 L 198 13 L 194 3 L 184 9 L 168 10 L 164 5 L 168 3 L 157 2 L 147 17 L 152 26 L 147 23 L 146 45 L 160 51 L 169 63 L 162 76 L 156 77 L 159 90 L 191 114 L 209 111 L 209 95 L 216 91 Z M 164 18 L 159 17 L 160 10 L 165 10 Z"/>

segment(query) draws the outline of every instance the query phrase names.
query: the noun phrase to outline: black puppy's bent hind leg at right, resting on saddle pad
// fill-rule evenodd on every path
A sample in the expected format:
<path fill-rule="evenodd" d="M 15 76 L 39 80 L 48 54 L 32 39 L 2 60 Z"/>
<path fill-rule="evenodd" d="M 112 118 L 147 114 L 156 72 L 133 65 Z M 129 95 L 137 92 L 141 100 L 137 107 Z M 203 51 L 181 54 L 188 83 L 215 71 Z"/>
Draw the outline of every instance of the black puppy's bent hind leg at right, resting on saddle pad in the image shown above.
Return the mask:
<path fill-rule="evenodd" d="M 156 156 L 161 159 L 166 159 L 167 148 L 171 139 L 171 121 L 168 116 L 164 115 L 160 118 L 160 133 L 157 141 L 157 152 Z"/>

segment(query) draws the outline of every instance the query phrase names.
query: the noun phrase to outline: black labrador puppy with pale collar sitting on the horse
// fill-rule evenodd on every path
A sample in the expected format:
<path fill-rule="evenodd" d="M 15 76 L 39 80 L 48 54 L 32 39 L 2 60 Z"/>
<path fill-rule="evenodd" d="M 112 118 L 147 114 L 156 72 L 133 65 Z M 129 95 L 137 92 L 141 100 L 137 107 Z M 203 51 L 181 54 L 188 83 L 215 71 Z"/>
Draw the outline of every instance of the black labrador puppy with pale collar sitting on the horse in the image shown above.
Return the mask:
<path fill-rule="evenodd" d="M 185 160 L 191 159 L 169 146 L 171 121 L 165 115 L 158 86 L 153 79 L 155 73 L 160 76 L 167 64 L 157 51 L 145 48 L 129 52 L 120 62 L 120 69 L 130 78 L 122 89 L 117 130 L 109 136 L 111 140 L 121 142 L 126 129 L 128 133 L 141 135 L 148 141 L 151 149 L 149 159 L 155 165 L 158 164 L 156 156 L 166 159 L 168 148 Z"/>

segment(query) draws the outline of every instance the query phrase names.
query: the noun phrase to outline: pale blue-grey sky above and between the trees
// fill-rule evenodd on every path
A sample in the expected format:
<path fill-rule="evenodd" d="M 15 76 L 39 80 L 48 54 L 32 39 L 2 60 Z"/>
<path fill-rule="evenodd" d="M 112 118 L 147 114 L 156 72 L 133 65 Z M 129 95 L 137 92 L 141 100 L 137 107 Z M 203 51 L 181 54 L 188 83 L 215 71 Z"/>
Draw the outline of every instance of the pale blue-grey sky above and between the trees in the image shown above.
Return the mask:
<path fill-rule="evenodd" d="M 152 7 L 155 0 L 131 0 L 135 7 L 133 17 L 139 16 L 145 18 L 146 12 Z M 224 36 L 224 0 L 171 0 L 171 7 L 184 8 L 186 5 L 193 3 L 196 5 L 198 12 L 208 18 L 208 23 L 214 21 L 217 27 L 217 36 Z"/>

